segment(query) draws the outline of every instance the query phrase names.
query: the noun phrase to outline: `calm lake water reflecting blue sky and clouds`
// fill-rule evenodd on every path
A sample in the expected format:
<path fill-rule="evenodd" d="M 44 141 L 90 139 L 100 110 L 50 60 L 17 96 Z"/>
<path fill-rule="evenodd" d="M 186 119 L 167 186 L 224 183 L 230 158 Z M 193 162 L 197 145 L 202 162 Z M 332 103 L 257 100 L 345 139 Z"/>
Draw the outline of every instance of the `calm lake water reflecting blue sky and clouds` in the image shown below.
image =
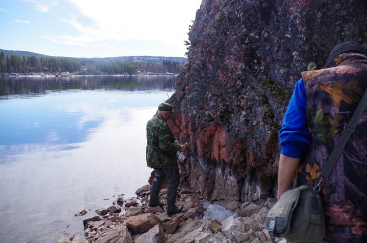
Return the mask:
<path fill-rule="evenodd" d="M 175 78 L 0 77 L 0 242 L 79 238 L 94 210 L 136 196 L 146 123 Z"/>

